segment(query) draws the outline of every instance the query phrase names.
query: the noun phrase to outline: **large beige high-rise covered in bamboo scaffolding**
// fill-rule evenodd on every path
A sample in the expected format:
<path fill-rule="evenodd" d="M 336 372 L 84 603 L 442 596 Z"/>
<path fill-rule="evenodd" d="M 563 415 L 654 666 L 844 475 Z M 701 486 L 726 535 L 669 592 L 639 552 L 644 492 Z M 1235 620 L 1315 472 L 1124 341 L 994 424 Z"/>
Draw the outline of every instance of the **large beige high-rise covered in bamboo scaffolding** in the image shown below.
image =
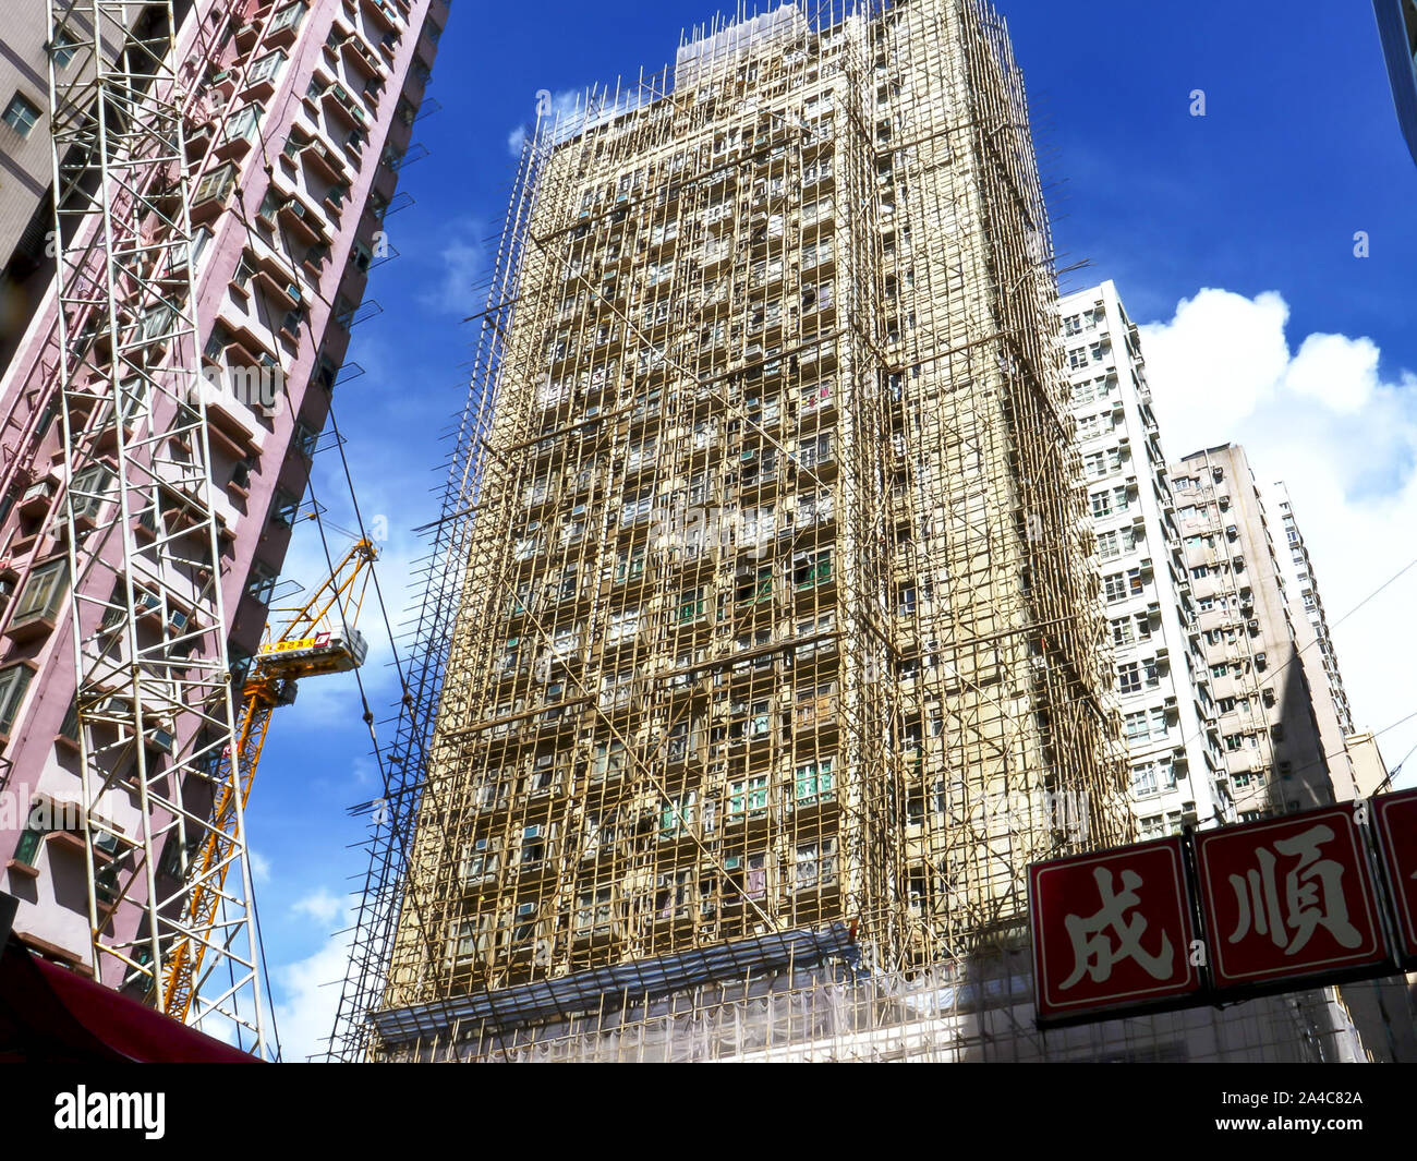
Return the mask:
<path fill-rule="evenodd" d="M 969 955 L 1132 834 L 1002 24 L 789 4 L 589 108 L 513 204 L 385 1031 Z"/>

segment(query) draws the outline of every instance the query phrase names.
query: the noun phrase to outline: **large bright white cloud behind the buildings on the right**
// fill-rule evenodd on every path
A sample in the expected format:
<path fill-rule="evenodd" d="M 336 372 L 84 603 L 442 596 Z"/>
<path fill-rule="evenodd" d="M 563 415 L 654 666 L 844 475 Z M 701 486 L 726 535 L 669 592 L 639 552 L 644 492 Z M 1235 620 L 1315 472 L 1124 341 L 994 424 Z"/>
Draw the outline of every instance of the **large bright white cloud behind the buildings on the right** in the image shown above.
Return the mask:
<path fill-rule="evenodd" d="M 1417 377 L 1384 380 L 1377 344 L 1362 336 L 1309 335 L 1291 353 L 1288 316 L 1272 291 L 1203 289 L 1142 327 L 1163 448 L 1175 461 L 1243 444 L 1261 490 L 1287 483 L 1355 723 L 1383 729 L 1417 710 L 1417 568 L 1335 622 L 1417 556 Z M 1417 722 L 1379 744 L 1396 763 L 1417 744 Z M 1408 771 L 1400 784 L 1417 757 Z"/>

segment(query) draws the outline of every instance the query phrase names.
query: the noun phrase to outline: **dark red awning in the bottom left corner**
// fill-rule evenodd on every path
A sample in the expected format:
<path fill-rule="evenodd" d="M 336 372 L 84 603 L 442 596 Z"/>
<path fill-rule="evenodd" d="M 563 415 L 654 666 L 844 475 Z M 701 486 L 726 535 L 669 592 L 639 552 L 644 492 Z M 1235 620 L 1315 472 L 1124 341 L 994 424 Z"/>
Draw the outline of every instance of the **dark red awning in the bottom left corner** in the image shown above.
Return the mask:
<path fill-rule="evenodd" d="M 256 1063 L 249 1053 L 40 960 L 10 940 L 0 957 L 0 1062 L 18 1060 Z"/>

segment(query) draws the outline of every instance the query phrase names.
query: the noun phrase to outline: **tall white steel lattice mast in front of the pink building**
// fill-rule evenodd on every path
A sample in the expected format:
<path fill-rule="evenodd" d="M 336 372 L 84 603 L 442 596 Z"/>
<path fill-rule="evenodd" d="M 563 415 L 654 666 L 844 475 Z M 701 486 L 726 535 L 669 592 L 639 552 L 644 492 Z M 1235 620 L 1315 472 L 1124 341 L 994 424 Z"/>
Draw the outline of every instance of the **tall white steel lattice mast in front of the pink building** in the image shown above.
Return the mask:
<path fill-rule="evenodd" d="M 54 381 L 92 971 L 164 1006 L 200 965 L 183 1018 L 266 1055 L 177 75 L 213 7 L 179 54 L 171 0 L 47 3 Z"/>

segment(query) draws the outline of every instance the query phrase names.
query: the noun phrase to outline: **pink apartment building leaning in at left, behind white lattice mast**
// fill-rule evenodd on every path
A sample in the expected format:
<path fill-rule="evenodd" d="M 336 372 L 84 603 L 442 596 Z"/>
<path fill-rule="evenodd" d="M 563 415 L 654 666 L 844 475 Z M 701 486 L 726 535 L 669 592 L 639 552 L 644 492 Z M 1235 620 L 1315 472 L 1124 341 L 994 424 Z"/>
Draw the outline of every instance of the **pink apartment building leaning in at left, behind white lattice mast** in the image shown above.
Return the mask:
<path fill-rule="evenodd" d="M 84 7 L 75 7 L 75 20 Z M 160 17 L 167 4 L 152 7 Z M 349 327 L 368 269 L 383 252 L 384 213 L 448 0 L 197 0 L 173 7 L 176 91 L 188 111 L 183 136 L 194 337 L 203 349 L 201 374 L 213 384 L 205 427 L 221 557 L 217 607 L 224 608 L 232 690 L 239 696 Z M 137 20 L 147 16 L 136 13 Z M 0 94 L 0 103 L 6 98 Z M 48 129 L 40 119 L 30 132 Z M 78 801 L 82 771 L 58 312 L 51 286 L 0 380 L 0 890 L 20 899 L 14 930 L 33 951 L 79 971 L 94 971 L 98 960 L 105 984 L 133 987 L 120 960 L 94 953 L 89 859 L 106 856 L 91 851 L 78 834 L 82 828 L 65 817 Z M 103 381 L 112 357 L 95 343 L 82 370 Z M 92 507 L 98 519 L 103 509 L 105 437 L 112 438 L 119 422 L 128 434 L 118 394 L 119 414 L 95 408 L 85 428 L 88 475 L 74 473 L 72 483 L 75 495 L 85 496 L 75 500 L 81 516 Z M 132 438 L 140 441 L 142 432 Z M 149 519 L 135 516 L 139 525 Z M 112 537 L 105 543 L 109 547 L 99 551 L 116 551 Z M 88 583 L 112 584 L 112 576 L 95 571 Z M 98 601 L 106 595 L 81 594 Z M 154 624 L 156 634 L 181 631 L 187 617 L 167 602 L 160 615 L 166 624 Z M 171 761 L 164 753 L 190 744 L 154 730 L 146 761 L 160 770 Z M 99 805 L 108 811 L 105 832 L 95 845 L 122 848 L 125 835 L 142 828 L 145 805 L 125 792 L 120 777 L 108 791 L 108 805 Z M 193 811 L 210 809 L 200 792 L 197 800 L 183 801 Z M 33 809 L 35 804 L 43 809 Z M 150 849 L 156 865 L 150 876 L 145 869 L 136 877 L 132 897 L 145 890 L 160 897 L 180 879 L 183 852 L 174 846 L 169 841 L 164 849 Z M 115 866 L 123 862 L 122 849 L 111 853 Z M 122 941 L 125 931 L 112 927 L 137 924 L 140 916 L 116 904 L 108 909 L 102 869 L 98 880 L 96 923 L 108 926 L 108 940 Z M 142 947 L 135 951 L 139 963 L 145 954 Z"/>

